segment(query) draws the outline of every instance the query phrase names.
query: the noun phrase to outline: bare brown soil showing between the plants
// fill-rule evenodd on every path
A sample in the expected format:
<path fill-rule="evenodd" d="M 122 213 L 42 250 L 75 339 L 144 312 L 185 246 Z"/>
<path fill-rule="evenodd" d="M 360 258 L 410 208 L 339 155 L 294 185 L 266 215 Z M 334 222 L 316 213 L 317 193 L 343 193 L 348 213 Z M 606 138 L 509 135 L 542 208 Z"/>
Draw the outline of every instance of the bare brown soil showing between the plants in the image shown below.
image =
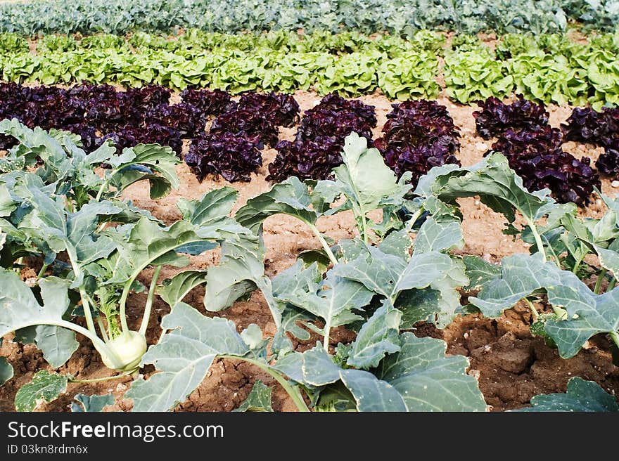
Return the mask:
<path fill-rule="evenodd" d="M 317 104 L 320 97 L 315 93 L 298 91 L 295 93 L 302 110 L 307 110 Z M 374 131 L 379 136 L 380 129 L 390 112 L 390 101 L 381 94 L 372 94 L 361 98 L 365 103 L 376 106 L 378 128 Z M 492 140 L 484 141 L 476 136 L 475 122 L 472 112 L 475 106 L 457 105 L 445 96 L 438 98 L 441 104 L 447 106 L 462 135 L 459 160 L 463 165 L 471 165 L 482 159 L 483 153 L 490 148 Z M 550 122 L 553 126 L 567 119 L 571 108 L 549 106 Z M 281 129 L 280 138 L 293 138 L 295 129 Z M 601 153 L 599 148 L 591 145 L 567 143 L 565 150 L 576 157 L 583 155 L 592 157 L 592 161 Z M 241 207 L 250 198 L 269 189 L 265 181 L 267 165 L 275 157 L 272 149 L 264 150 L 264 166 L 253 176 L 249 183 L 229 184 L 222 178 L 206 178 L 199 183 L 185 164 L 179 165 L 177 171 L 181 178 L 179 190 L 161 200 L 151 200 L 148 190 L 143 186 L 134 186 L 126 195 L 134 200 L 139 207 L 146 208 L 163 221 L 174 221 L 179 218 L 175 203 L 179 197 L 189 199 L 199 198 L 205 192 L 223 186 L 232 186 L 238 190 L 239 200 L 233 211 Z M 611 187 L 610 181 L 602 181 L 602 192 L 614 196 L 617 189 Z M 521 240 L 513 241 L 501 230 L 504 219 L 501 215 L 492 212 L 475 198 L 461 200 L 461 209 L 464 214 L 463 230 L 466 245 L 462 252 L 478 254 L 487 260 L 498 261 L 502 257 L 520 252 L 528 252 L 528 245 Z M 600 200 L 595 200 L 589 207 L 582 210 L 586 216 L 599 216 L 604 211 Z M 319 221 L 320 231 L 338 240 L 350 238 L 354 233 L 352 216 L 341 214 Z M 295 261 L 295 255 L 304 249 L 319 248 L 319 242 L 299 221 L 288 216 L 273 216 L 264 224 L 264 243 L 268 248 L 265 266 L 267 275 L 273 276 Z M 192 268 L 205 268 L 215 264 L 217 252 L 209 252 L 191 258 Z M 162 271 L 160 280 L 168 278 L 178 269 L 167 268 Z M 148 283 L 152 271 L 145 271 L 141 281 Z M 198 287 L 186 301 L 203 311 L 203 289 Z M 145 301 L 143 294 L 136 294 L 129 304 L 129 325 L 139 323 L 141 307 Z M 149 343 L 155 342 L 160 335 L 158 327 L 160 319 L 168 311 L 167 304 L 157 299 L 154 306 L 154 315 L 148 330 Z M 267 304 L 260 292 L 255 292 L 248 301 L 237 302 L 230 309 L 220 313 L 208 313 L 233 320 L 241 331 L 250 323 L 257 323 L 262 328 L 265 337 L 275 332 Z M 545 346 L 543 341 L 534 338 L 528 330 L 530 314 L 527 309 L 519 306 L 506 311 L 497 320 L 481 318 L 477 315 L 457 318 L 444 331 L 436 330 L 433 325 L 419 325 L 418 335 L 442 337 L 448 344 L 448 353 L 458 353 L 468 356 L 471 361 L 469 373 L 478 377 L 480 389 L 492 410 L 507 410 L 519 408 L 528 404 L 535 394 L 549 392 L 563 392 L 570 377 L 580 376 L 599 382 L 604 389 L 613 393 L 619 392 L 619 368 L 611 364 L 608 344 L 603 338 L 595 338 L 575 358 L 568 361 L 559 358 L 554 349 Z M 334 335 L 337 340 L 350 341 L 354 336 L 345 330 Z M 78 335 L 79 336 L 79 335 Z M 11 342 L 6 337 L 0 348 L 0 356 L 6 356 L 15 368 L 15 377 L 0 387 L 0 410 L 12 411 L 15 392 L 32 379 L 36 370 L 46 368 L 42 354 L 34 346 L 21 346 Z M 101 359 L 89 342 L 81 338 L 82 346 L 72 356 L 70 361 L 60 370 L 75 377 L 92 379 L 110 375 L 110 371 L 101 363 Z M 298 344 L 300 350 L 307 344 L 315 344 L 315 337 L 305 344 Z M 145 370 L 146 371 L 146 370 Z M 180 411 L 228 411 L 236 408 L 248 395 L 256 379 L 274 386 L 275 410 L 292 411 L 294 405 L 286 397 L 285 392 L 276 386 L 272 378 L 264 375 L 253 365 L 238 361 L 220 360 L 212 366 L 208 376 L 198 389 L 189 396 L 189 399 L 179 405 Z M 123 377 L 114 381 L 98 384 L 70 384 L 68 392 L 58 401 L 41 405 L 39 410 L 67 410 L 75 394 L 104 394 L 112 391 L 116 403 L 109 410 L 129 410 L 131 401 L 122 396 L 128 389 L 130 379 Z"/>

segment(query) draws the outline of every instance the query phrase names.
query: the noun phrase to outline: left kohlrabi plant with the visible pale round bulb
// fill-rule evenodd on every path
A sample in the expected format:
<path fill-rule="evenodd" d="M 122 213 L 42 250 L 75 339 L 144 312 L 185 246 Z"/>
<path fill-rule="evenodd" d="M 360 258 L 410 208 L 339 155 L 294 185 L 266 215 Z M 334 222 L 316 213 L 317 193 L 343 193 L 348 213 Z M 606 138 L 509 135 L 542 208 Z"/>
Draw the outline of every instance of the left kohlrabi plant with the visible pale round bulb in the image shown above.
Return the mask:
<path fill-rule="evenodd" d="M 33 131 L 15 121 L 1 122 L 0 130 L 20 141 L 0 165 L 0 337 L 15 332 L 16 340 L 37 344 L 52 368 L 77 349 L 79 332 L 108 368 L 136 372 L 162 266 L 186 266 L 187 255 L 223 240 L 257 243 L 228 217 L 236 201 L 231 188 L 179 200 L 183 218 L 170 226 L 122 200 L 137 181 L 150 182 L 153 198 L 178 185 L 179 160 L 170 148 L 136 145 L 116 155 L 106 143 L 87 155 L 65 133 Z M 94 167 L 102 165 L 107 168 L 96 174 Z M 39 271 L 23 281 L 26 259 Z M 153 278 L 141 324 L 132 329 L 127 302 L 130 293 L 144 290 L 138 277 L 147 267 Z M 41 379 L 67 379 L 59 376 Z"/>

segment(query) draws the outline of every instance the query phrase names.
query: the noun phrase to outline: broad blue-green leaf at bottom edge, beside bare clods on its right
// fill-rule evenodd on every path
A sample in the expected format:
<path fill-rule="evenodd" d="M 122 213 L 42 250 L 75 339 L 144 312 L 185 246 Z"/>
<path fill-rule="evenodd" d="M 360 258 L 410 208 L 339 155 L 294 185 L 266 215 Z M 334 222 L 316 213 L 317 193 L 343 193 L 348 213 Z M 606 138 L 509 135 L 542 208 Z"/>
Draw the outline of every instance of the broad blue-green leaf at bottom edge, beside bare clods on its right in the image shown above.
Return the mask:
<path fill-rule="evenodd" d="M 485 411 L 477 380 L 464 356 L 445 356 L 440 339 L 400 336 L 400 352 L 378 367 L 378 378 L 396 389 L 408 411 Z"/>

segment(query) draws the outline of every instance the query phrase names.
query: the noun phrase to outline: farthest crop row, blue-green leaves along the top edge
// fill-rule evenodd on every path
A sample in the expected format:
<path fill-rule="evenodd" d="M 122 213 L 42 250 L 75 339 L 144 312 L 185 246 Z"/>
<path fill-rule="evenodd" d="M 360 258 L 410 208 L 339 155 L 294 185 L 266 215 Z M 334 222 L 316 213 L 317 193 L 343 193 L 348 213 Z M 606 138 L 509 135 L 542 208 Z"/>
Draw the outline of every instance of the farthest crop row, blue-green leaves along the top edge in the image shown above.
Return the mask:
<path fill-rule="evenodd" d="M 616 0 L 56 0 L 0 5 L 0 31 L 22 34 L 169 31 L 354 30 L 406 34 L 419 29 L 468 33 L 557 32 L 569 22 L 613 30 Z"/>

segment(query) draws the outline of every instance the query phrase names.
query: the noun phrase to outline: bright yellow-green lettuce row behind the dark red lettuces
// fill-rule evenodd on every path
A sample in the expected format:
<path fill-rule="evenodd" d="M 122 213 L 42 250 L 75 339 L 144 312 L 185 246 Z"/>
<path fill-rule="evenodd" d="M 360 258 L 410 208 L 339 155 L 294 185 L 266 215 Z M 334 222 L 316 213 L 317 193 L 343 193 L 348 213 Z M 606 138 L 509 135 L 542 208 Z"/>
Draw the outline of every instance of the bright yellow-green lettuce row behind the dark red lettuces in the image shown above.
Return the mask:
<path fill-rule="evenodd" d="M 8 82 L 208 86 L 232 93 L 311 88 L 348 96 L 380 89 L 398 99 L 435 98 L 445 89 L 459 103 L 517 92 L 543 103 L 597 109 L 619 102 L 618 53 L 617 32 L 589 41 L 507 34 L 492 49 L 478 37 L 457 35 L 447 42 L 428 31 L 411 39 L 369 39 L 358 33 L 193 30 L 172 40 L 145 33 L 127 39 L 49 35 L 32 51 L 22 37 L 0 34 L 1 78 Z"/>

